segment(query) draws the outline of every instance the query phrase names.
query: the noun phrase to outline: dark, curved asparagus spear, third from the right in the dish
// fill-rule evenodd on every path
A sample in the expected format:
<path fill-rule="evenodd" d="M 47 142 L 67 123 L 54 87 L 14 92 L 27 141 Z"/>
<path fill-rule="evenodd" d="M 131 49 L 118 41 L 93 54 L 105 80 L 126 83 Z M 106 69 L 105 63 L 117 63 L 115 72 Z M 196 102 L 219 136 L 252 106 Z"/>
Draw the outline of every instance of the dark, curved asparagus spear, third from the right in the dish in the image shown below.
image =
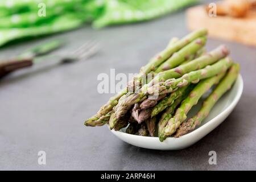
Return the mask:
<path fill-rule="evenodd" d="M 181 101 L 188 97 L 188 94 L 193 88 L 195 88 L 195 84 L 190 85 L 185 90 L 185 92 L 183 92 L 182 96 L 177 98 L 174 103 L 170 107 L 167 107 L 166 111 L 164 111 L 164 113 L 162 114 L 158 123 L 158 138 L 161 142 L 163 142 L 163 140 L 167 137 L 164 134 L 164 127 L 167 125 L 168 120 L 172 117 L 172 114 L 174 114 L 176 107 L 180 104 Z"/>

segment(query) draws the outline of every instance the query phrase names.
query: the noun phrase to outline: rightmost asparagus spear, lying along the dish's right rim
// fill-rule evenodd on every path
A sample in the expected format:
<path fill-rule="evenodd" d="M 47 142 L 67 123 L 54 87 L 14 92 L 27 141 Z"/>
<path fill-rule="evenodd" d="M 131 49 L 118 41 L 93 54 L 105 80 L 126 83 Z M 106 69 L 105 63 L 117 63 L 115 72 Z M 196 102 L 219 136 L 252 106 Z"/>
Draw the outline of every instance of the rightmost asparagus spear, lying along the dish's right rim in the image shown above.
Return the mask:
<path fill-rule="evenodd" d="M 213 90 L 210 96 L 203 102 L 203 106 L 199 112 L 192 118 L 189 118 L 187 122 L 184 122 L 177 129 L 174 137 L 180 137 L 187 134 L 189 131 L 194 130 L 196 126 L 201 125 L 201 122 L 206 118 L 216 102 L 221 98 L 221 96 L 226 93 L 238 76 L 240 70 L 239 64 L 233 64 L 229 69 L 229 72 L 221 80 L 220 84 Z"/>

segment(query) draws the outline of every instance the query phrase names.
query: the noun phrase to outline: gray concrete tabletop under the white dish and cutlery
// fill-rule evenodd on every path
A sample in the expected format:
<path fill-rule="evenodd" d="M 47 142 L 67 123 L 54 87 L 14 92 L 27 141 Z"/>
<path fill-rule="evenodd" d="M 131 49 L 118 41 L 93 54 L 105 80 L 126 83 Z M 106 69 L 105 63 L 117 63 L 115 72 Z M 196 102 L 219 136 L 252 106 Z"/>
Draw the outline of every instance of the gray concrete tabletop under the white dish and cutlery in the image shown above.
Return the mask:
<path fill-rule="evenodd" d="M 183 12 L 151 22 L 94 31 L 89 26 L 44 39 L 1 49 L 0 58 L 58 37 L 70 43 L 69 52 L 89 39 L 102 49 L 76 64 L 57 65 L 49 59 L 34 68 L 0 81 L 0 169 L 78 170 L 221 170 L 256 169 L 256 48 L 210 39 L 207 48 L 225 43 L 241 64 L 245 81 L 236 109 L 214 131 L 179 151 L 154 151 L 130 146 L 108 128 L 84 127 L 109 94 L 97 93 L 97 75 L 135 73 L 161 50 L 172 36 L 187 34 Z M 47 164 L 38 164 L 38 151 Z M 208 152 L 217 152 L 217 165 L 208 164 Z"/>

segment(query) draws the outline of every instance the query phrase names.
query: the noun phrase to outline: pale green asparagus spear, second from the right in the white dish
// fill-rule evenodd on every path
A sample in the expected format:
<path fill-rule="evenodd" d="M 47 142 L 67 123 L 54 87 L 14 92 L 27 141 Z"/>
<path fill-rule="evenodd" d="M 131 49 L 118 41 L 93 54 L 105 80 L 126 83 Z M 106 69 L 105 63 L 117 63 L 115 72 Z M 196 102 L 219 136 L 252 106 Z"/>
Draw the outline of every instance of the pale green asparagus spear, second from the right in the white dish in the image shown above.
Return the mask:
<path fill-rule="evenodd" d="M 196 105 L 201 96 L 206 93 L 214 84 L 224 77 L 226 70 L 220 72 L 218 75 L 207 78 L 199 82 L 196 87 L 189 93 L 189 96 L 181 102 L 180 107 L 176 110 L 174 117 L 172 117 L 166 127 L 164 127 L 164 134 L 170 136 L 175 133 L 180 124 L 187 118 L 187 113 L 192 106 Z"/>

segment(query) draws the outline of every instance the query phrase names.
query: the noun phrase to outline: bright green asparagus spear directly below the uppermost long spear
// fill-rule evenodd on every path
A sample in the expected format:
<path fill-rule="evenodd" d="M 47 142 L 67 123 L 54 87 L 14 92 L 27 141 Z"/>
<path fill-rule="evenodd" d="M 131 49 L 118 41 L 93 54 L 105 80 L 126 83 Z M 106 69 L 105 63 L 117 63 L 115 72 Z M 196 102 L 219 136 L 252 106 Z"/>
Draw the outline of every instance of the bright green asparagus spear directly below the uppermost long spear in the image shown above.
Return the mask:
<path fill-rule="evenodd" d="M 193 42 L 181 48 L 178 52 L 175 52 L 167 61 L 160 65 L 155 72 L 159 73 L 177 67 L 177 65 L 188 59 L 189 56 L 195 54 L 199 49 L 204 47 L 206 41 L 207 38 L 205 36 L 193 40 Z"/>

